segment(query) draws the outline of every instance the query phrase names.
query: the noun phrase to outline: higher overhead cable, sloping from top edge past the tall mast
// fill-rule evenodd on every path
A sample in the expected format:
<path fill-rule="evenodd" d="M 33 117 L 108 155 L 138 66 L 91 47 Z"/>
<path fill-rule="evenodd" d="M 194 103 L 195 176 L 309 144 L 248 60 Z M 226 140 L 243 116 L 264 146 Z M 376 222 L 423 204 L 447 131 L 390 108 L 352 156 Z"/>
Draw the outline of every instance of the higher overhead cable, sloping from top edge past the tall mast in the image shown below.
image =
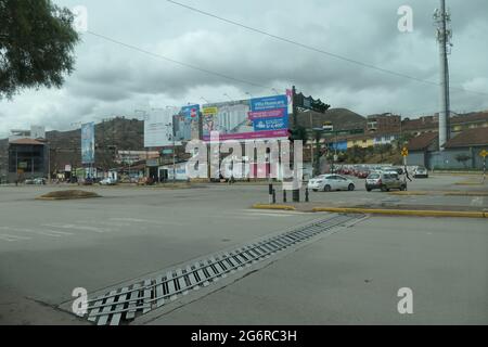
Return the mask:
<path fill-rule="evenodd" d="M 181 8 L 188 9 L 190 11 L 193 11 L 193 12 L 196 12 L 196 13 L 200 13 L 200 14 L 203 14 L 203 15 L 206 15 L 206 16 L 219 20 L 221 22 L 226 22 L 228 24 L 232 24 L 232 25 L 245 28 L 247 30 L 251 30 L 251 31 L 254 31 L 254 33 L 257 33 L 257 34 L 261 34 L 261 35 L 271 37 L 273 39 L 277 39 L 277 40 L 280 40 L 280 41 L 283 41 L 283 42 L 286 42 L 286 43 L 291 43 L 291 44 L 294 44 L 294 46 L 307 49 L 309 51 L 313 51 L 316 53 L 320 53 L 320 54 L 324 54 L 324 55 L 328 55 L 328 56 L 331 56 L 331 57 L 334 57 L 334 59 L 338 59 L 338 60 L 348 62 L 350 64 L 359 65 L 359 66 L 371 68 L 371 69 L 374 69 L 374 70 L 377 70 L 377 72 L 381 72 L 381 73 L 384 73 L 384 74 L 389 74 L 389 75 L 394 75 L 394 76 L 397 76 L 397 77 L 407 78 L 407 79 L 414 80 L 414 81 L 422 82 L 422 83 L 427 83 L 427 85 L 437 86 L 437 87 L 439 86 L 438 82 L 435 82 L 435 81 L 432 81 L 432 80 L 413 77 L 413 76 L 410 76 L 410 75 L 407 75 L 407 74 L 402 74 L 402 73 L 394 72 L 394 70 L 390 70 L 390 69 L 387 69 L 387 68 L 383 68 L 383 67 L 380 67 L 380 66 L 375 66 L 375 65 L 372 65 L 372 64 L 363 63 L 363 62 L 360 62 L 360 61 L 357 61 L 357 60 L 354 60 L 354 59 L 350 59 L 350 57 L 347 57 L 347 56 L 344 56 L 344 55 L 331 53 L 331 52 L 324 51 L 322 49 L 319 49 L 319 48 L 316 48 L 316 47 L 312 47 L 312 46 L 309 46 L 309 44 L 300 43 L 300 42 L 297 42 L 297 41 L 288 39 L 288 38 L 284 38 L 284 37 L 281 37 L 281 36 L 278 36 L 278 35 L 274 35 L 274 34 L 261 30 L 261 29 L 257 29 L 257 28 L 251 27 L 248 25 L 245 25 L 245 24 L 232 21 L 232 20 L 228 20 L 228 18 L 221 17 L 221 16 L 218 16 L 218 15 L 216 15 L 214 13 L 200 10 L 200 9 L 190 7 L 190 5 L 184 4 L 184 3 L 180 3 L 180 2 L 177 2 L 177 1 L 172 1 L 172 0 L 166 0 L 166 1 L 168 1 L 168 2 L 170 2 L 172 4 L 176 4 L 176 5 L 179 5 Z M 476 93 L 476 94 L 480 94 L 480 95 L 488 95 L 488 93 L 485 93 L 485 92 L 467 90 L 467 89 L 464 89 L 464 88 L 461 88 L 461 87 L 451 87 L 450 89 L 461 90 L 461 91 L 464 91 L 464 92 L 471 92 L 471 93 Z"/>

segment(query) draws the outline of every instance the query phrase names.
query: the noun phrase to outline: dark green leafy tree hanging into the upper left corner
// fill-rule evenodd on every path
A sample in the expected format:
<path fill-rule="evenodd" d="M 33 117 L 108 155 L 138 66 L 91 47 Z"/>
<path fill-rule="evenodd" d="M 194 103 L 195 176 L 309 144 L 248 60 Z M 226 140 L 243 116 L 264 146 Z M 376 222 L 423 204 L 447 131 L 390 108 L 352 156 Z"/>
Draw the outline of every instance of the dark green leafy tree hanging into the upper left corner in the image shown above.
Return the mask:
<path fill-rule="evenodd" d="M 56 87 L 74 69 L 73 13 L 51 0 L 0 0 L 0 99 Z"/>

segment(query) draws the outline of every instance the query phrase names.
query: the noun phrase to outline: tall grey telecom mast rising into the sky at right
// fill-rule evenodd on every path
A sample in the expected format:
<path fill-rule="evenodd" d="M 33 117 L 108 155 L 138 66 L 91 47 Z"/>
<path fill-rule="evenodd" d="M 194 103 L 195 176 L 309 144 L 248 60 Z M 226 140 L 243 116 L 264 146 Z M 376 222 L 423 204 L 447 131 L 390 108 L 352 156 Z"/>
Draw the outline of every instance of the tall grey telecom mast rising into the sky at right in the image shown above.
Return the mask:
<path fill-rule="evenodd" d="M 452 30 L 450 28 L 451 15 L 446 11 L 446 0 L 440 0 L 440 9 L 436 9 L 434 21 L 437 24 L 437 41 L 439 42 L 440 62 L 440 111 L 439 111 L 439 150 L 450 137 L 450 95 L 449 95 L 449 60 Z"/>

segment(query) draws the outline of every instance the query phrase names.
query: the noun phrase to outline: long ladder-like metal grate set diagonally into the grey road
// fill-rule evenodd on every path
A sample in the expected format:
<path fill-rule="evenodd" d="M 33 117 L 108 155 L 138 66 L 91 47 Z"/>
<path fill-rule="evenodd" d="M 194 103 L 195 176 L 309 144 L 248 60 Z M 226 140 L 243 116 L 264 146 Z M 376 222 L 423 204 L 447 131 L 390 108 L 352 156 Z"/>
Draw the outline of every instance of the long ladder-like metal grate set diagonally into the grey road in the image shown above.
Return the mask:
<path fill-rule="evenodd" d="M 88 320 L 98 325 L 118 325 L 120 322 L 132 321 L 137 316 L 177 299 L 179 295 L 206 287 L 228 274 L 268 259 L 275 253 L 362 218 L 362 215 L 335 215 L 275 236 L 261 239 L 233 252 L 209 256 L 185 268 L 114 290 L 88 301 Z"/>

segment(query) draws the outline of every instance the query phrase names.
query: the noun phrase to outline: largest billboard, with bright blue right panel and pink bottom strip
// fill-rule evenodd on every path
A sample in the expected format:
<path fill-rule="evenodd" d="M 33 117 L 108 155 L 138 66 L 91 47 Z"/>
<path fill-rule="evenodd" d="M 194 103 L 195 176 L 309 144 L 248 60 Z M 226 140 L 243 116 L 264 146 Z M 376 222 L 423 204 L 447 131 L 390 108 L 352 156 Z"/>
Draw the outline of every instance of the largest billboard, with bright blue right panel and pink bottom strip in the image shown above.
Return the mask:
<path fill-rule="evenodd" d="M 287 108 L 286 95 L 204 105 L 203 139 L 210 141 L 213 131 L 222 141 L 287 138 Z"/>

